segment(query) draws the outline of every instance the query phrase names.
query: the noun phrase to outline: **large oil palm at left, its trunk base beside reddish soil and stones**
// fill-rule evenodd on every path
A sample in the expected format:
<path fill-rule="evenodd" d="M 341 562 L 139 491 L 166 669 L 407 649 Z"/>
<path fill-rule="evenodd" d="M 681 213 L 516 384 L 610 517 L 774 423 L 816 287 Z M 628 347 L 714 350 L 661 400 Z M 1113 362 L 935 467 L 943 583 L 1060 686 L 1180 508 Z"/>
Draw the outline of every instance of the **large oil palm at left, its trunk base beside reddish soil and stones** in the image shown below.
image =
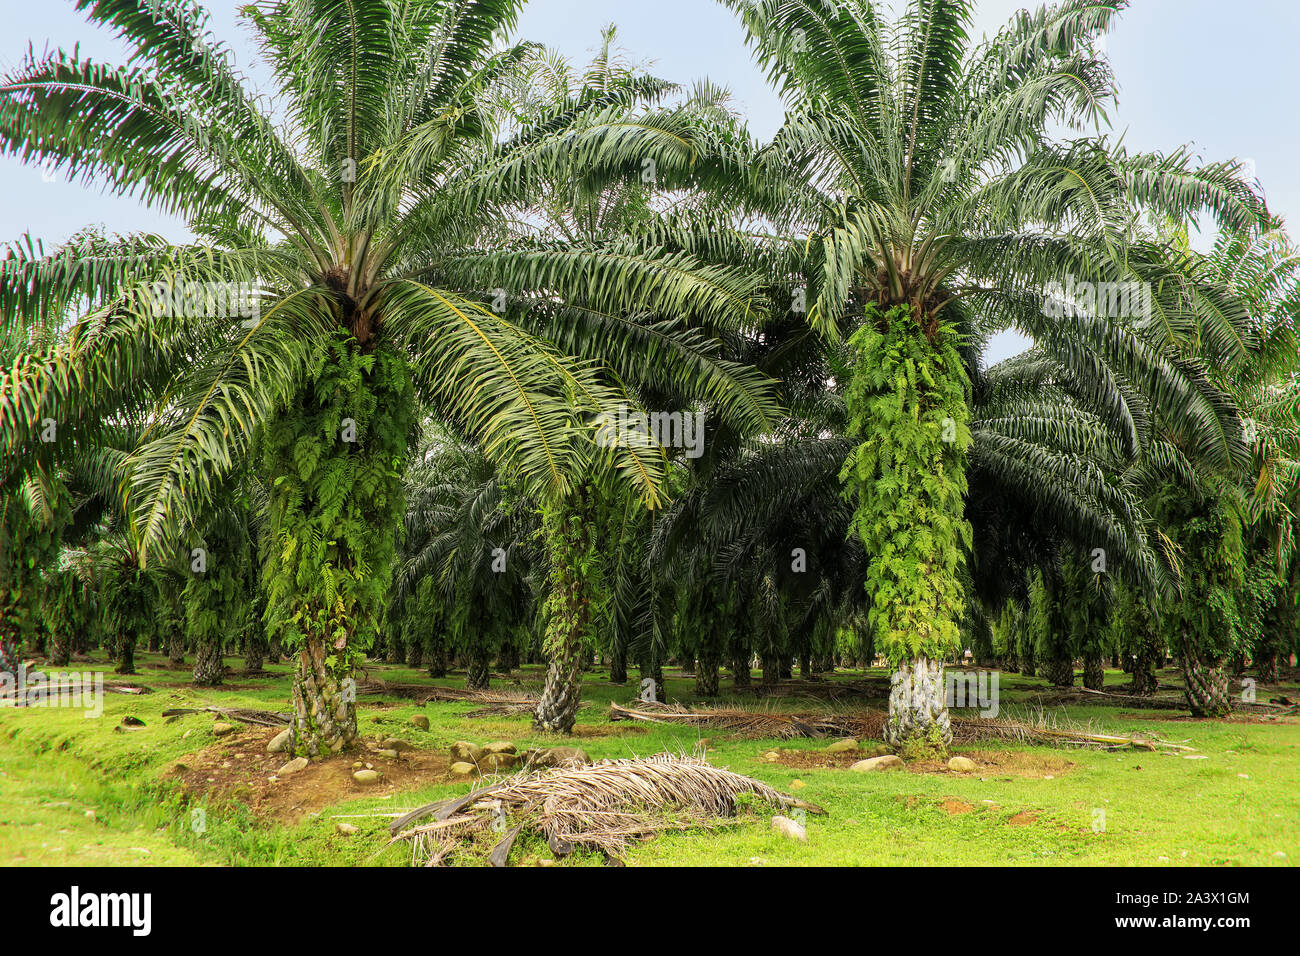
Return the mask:
<path fill-rule="evenodd" d="M 530 47 L 494 36 L 520 7 L 250 5 L 272 105 L 200 8 L 79 0 L 129 62 L 60 51 L 0 81 L 0 150 L 138 195 L 198 237 L 9 248 L 0 308 L 34 325 L 77 320 L 0 372 L 0 473 L 66 454 L 148 395 L 152 427 L 122 484 L 147 562 L 202 523 L 261 436 L 268 626 L 298 657 L 306 753 L 356 734 L 347 682 L 391 576 L 416 397 L 541 497 L 562 497 L 603 455 L 658 498 L 660 457 L 590 441 L 618 390 L 494 311 L 498 293 L 581 293 L 611 313 L 750 311 L 742 277 L 689 256 L 504 245 L 556 178 L 629 177 L 646 163 L 672 176 L 701 150 L 692 114 L 629 120 L 625 91 L 504 124 L 500 86 Z M 40 441 L 43 421 L 57 423 L 56 441 Z"/>

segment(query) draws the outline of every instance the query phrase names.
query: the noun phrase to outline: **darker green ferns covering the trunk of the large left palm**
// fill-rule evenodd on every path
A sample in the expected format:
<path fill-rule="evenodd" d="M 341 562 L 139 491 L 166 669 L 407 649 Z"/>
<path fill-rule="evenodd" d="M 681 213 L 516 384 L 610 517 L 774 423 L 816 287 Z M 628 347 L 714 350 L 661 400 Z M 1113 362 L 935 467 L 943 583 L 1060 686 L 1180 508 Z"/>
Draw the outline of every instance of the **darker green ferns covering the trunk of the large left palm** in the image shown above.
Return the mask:
<path fill-rule="evenodd" d="M 387 600 L 412 415 L 403 359 L 338 332 L 266 427 L 268 632 L 290 650 L 318 640 L 337 678 L 373 643 Z"/>

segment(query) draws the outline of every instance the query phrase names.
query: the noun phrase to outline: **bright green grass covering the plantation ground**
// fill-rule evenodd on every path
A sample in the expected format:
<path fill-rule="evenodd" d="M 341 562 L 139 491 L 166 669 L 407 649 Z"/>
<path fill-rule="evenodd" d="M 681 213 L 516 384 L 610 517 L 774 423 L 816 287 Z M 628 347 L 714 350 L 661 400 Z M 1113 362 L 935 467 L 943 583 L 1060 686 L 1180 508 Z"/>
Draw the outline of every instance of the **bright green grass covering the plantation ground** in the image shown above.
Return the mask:
<path fill-rule="evenodd" d="M 157 656 L 142 654 L 136 680 L 155 693 L 107 695 L 104 714 L 86 719 L 69 709 L 0 709 L 0 864 L 75 865 L 399 865 L 402 848 L 381 848 L 389 817 L 421 803 L 465 792 L 467 783 L 430 779 L 428 786 L 391 797 L 350 800 L 292 826 L 255 819 L 240 805 L 207 805 L 182 797 L 165 777 L 172 763 L 211 744 L 212 718 L 166 722 L 168 708 L 243 706 L 286 709 L 287 669 L 274 679 L 230 679 L 234 687 L 200 689 L 187 671 L 166 670 Z M 239 667 L 239 662 L 231 659 Z M 108 670 L 98 666 L 96 670 Z M 374 667 L 390 680 L 425 680 L 410 669 Z M 1071 706 L 1056 717 L 1113 732 L 1147 732 L 1196 748 L 1206 760 L 1150 752 L 1106 753 L 1010 744 L 1032 769 L 1044 760 L 1072 763 L 1066 771 L 1019 777 L 982 771 L 971 775 L 890 771 L 854 774 L 842 769 L 797 770 L 764 760 L 772 749 L 820 749 L 816 740 L 738 740 L 705 730 L 610 723 L 610 701 L 627 702 L 634 687 L 611 687 L 593 675 L 575 740 L 594 758 L 692 750 L 707 737 L 708 758 L 824 806 L 809 816 L 807 843 L 783 839 L 768 829 L 767 810 L 746 809 L 733 826 L 688 831 L 642 844 L 629 865 L 1292 865 L 1300 860 L 1300 723 L 1170 721 L 1175 711 L 1136 714 L 1118 708 Z M 1126 676 L 1108 675 L 1110 684 Z M 528 669 L 526 683 L 541 680 Z M 459 685 L 459 680 L 439 682 Z M 670 675 L 668 696 L 690 701 L 693 682 Z M 1032 706 L 1041 680 L 1002 678 L 1002 708 Z M 1296 696 L 1296 688 L 1280 688 Z M 393 706 L 377 709 L 376 704 Z M 824 705 L 774 704 L 789 709 Z M 442 750 L 459 739 L 510 739 L 523 747 L 556 743 L 537 735 L 526 717 L 469 719 L 473 705 L 429 704 L 363 697 L 364 735 L 398 735 L 422 749 Z M 429 717 L 429 731 L 408 723 Z M 146 728 L 120 732 L 122 717 Z M 1161 719 L 1165 718 L 1165 719 Z M 962 752 L 963 748 L 958 748 Z M 1026 770 L 1027 773 L 1027 770 Z M 1050 775 L 1052 779 L 1046 779 Z M 1244 775 L 1244 777 L 1243 777 Z M 944 809 L 961 804 L 965 813 Z M 203 810 L 202 832 L 194 812 Z M 87 816 L 92 812 L 94 817 Z M 1098 812 L 1105 813 L 1104 829 Z M 337 832 L 337 817 L 361 829 Z M 1013 822 L 1026 822 L 1017 825 Z M 1286 853 L 1278 857 L 1275 853 Z M 378 853 L 378 856 L 376 856 Z M 514 861 L 549 858 L 538 840 L 525 842 Z M 569 862 L 595 862 L 590 856 Z"/>

